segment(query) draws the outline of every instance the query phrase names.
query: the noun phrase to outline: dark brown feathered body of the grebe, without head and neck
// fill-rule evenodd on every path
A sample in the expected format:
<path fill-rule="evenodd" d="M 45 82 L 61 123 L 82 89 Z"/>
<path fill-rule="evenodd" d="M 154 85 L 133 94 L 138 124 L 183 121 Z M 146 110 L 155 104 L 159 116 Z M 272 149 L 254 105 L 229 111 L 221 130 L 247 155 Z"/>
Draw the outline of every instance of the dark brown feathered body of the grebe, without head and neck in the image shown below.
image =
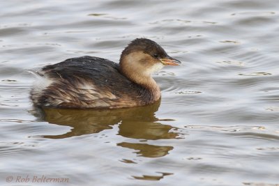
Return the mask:
<path fill-rule="evenodd" d="M 45 66 L 38 75 L 48 82 L 31 91 L 33 103 L 41 107 L 121 108 L 153 102 L 150 90 L 131 82 L 121 74 L 119 64 L 107 59 L 67 59 Z"/>

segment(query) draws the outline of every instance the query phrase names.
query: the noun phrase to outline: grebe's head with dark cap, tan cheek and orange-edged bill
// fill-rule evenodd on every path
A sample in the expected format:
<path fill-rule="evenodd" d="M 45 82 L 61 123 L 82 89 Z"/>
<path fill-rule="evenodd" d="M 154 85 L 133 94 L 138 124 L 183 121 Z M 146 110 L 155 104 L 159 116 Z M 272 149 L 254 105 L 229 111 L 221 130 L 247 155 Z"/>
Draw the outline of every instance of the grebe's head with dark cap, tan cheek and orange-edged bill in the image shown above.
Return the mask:
<path fill-rule="evenodd" d="M 165 65 L 179 65 L 179 63 L 181 62 L 167 55 L 160 45 L 146 38 L 137 38 L 130 42 L 120 58 L 121 71 L 135 82 L 150 77 L 153 72 Z"/>

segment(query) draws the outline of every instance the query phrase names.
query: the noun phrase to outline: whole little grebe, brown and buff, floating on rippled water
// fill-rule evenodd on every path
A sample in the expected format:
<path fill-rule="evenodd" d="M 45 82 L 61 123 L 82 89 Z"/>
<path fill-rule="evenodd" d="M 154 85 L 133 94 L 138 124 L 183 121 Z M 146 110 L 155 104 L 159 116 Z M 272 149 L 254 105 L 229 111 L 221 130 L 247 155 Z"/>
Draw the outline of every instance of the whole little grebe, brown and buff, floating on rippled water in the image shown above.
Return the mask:
<path fill-rule="evenodd" d="M 33 72 L 31 100 L 37 107 L 123 108 L 152 104 L 160 88 L 151 77 L 164 65 L 179 65 L 153 40 L 130 42 L 120 63 L 92 56 L 66 59 Z"/>

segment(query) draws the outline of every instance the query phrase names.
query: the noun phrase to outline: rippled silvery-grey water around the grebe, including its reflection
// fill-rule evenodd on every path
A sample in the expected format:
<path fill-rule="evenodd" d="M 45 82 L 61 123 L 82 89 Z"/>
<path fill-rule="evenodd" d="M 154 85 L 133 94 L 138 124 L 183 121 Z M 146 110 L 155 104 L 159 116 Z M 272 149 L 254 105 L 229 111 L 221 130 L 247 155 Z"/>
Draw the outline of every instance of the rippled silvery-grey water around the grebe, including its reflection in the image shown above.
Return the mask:
<path fill-rule="evenodd" d="M 0 10 L 1 185 L 279 184 L 277 0 L 2 0 Z M 140 37 L 183 61 L 154 75 L 159 104 L 33 109 L 28 69 L 118 61 Z"/>

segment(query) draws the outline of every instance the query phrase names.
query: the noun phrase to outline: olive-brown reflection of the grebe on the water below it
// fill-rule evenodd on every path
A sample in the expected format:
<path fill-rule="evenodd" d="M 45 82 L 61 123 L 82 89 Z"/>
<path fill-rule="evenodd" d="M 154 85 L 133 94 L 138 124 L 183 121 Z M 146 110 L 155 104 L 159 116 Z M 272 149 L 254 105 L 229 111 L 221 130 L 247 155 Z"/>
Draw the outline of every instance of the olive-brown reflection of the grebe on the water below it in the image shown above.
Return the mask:
<path fill-rule="evenodd" d="M 42 109 L 44 121 L 56 125 L 73 127 L 70 132 L 60 135 L 45 135 L 49 139 L 63 139 L 84 134 L 98 133 L 119 125 L 119 135 L 131 139 L 156 140 L 176 139 L 179 133 L 176 127 L 158 123 L 155 113 L 160 106 L 160 100 L 144 107 L 127 109 Z M 163 120 L 164 121 L 164 120 Z M 140 142 L 119 143 L 118 146 L 137 150 L 137 155 L 144 157 L 161 157 L 167 155 L 172 146 L 153 146 Z"/>

